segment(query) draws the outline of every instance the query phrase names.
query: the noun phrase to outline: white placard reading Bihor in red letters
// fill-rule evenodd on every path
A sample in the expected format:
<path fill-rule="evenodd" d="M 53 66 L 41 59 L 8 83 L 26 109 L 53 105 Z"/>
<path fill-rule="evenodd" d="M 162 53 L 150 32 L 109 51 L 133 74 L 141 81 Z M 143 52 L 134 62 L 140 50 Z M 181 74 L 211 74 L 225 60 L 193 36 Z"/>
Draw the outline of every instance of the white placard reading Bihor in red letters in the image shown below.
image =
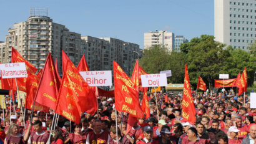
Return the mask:
<path fill-rule="evenodd" d="M 87 71 L 79 72 L 82 78 L 86 80 L 90 87 L 94 86 L 111 86 L 112 85 L 112 72 L 106 71 Z"/>

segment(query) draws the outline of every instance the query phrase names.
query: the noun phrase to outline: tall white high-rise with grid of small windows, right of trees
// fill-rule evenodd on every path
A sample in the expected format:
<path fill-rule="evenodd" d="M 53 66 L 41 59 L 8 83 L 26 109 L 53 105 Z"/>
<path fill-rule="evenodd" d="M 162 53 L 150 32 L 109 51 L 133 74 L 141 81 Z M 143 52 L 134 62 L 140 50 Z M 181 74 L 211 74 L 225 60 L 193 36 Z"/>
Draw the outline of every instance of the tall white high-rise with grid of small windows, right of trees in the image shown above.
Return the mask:
<path fill-rule="evenodd" d="M 256 1 L 215 0 L 214 35 L 215 41 L 247 50 L 256 38 Z"/>

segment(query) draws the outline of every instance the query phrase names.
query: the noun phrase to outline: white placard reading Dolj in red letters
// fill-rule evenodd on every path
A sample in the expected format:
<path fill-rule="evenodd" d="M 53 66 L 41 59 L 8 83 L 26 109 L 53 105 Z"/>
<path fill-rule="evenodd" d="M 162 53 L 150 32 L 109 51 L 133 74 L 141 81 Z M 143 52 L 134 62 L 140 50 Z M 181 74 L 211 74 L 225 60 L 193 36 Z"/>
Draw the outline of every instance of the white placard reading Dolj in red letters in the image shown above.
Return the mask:
<path fill-rule="evenodd" d="M 166 87 L 166 74 L 140 75 L 142 87 Z"/>

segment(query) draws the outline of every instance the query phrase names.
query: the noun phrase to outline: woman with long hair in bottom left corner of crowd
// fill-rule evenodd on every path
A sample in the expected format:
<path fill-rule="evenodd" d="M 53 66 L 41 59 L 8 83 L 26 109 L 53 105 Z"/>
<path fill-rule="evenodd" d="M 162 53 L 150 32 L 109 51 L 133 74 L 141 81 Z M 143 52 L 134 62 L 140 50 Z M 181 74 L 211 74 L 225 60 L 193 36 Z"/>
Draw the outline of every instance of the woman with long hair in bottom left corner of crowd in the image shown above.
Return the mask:
<path fill-rule="evenodd" d="M 23 140 L 23 136 L 19 132 L 19 125 L 16 123 L 12 123 L 6 133 L 6 139 L 4 140 L 4 144 L 25 144 Z"/>

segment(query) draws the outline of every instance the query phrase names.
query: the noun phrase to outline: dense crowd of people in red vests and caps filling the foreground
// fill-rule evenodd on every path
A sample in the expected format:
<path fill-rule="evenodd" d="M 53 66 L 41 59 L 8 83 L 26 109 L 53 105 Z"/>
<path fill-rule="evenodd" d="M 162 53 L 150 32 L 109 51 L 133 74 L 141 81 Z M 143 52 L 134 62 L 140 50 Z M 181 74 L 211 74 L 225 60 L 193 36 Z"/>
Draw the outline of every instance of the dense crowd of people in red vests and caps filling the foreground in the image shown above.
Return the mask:
<path fill-rule="evenodd" d="M 94 115 L 81 113 L 78 124 L 62 115 L 52 120 L 54 110 L 26 110 L 23 117 L 16 100 L 12 102 L 6 97 L 7 108 L 0 110 L 0 144 L 256 143 L 256 109 L 250 108 L 247 94 L 238 97 L 233 91 L 192 93 L 195 123 L 182 118 L 182 92 L 167 95 L 167 100 L 165 95 L 162 91 L 148 94 L 150 117 L 138 118 L 129 132 L 129 113 L 116 112 L 115 98 L 98 97 L 97 112 Z M 139 100 L 142 103 L 142 95 Z"/>

